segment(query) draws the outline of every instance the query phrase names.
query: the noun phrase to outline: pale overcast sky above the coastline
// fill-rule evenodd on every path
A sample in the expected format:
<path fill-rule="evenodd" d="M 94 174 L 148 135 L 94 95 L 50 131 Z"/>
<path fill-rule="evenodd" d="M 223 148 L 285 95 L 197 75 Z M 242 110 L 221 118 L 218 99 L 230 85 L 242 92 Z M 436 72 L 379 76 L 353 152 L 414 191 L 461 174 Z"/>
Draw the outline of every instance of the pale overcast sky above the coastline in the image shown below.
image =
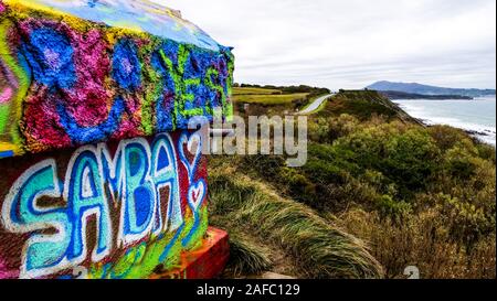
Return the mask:
<path fill-rule="evenodd" d="M 496 0 L 155 1 L 233 46 L 239 83 L 496 86 Z"/>

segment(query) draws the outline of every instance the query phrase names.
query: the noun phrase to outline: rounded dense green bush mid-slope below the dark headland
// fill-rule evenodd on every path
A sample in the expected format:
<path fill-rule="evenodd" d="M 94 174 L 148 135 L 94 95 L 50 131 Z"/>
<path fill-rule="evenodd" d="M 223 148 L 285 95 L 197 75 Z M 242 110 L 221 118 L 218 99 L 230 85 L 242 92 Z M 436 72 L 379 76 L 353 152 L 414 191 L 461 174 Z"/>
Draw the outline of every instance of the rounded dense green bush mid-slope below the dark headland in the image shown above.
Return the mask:
<path fill-rule="evenodd" d="M 394 183 L 404 200 L 426 187 L 440 160 L 440 150 L 422 128 L 403 128 L 395 122 L 364 128 L 339 139 L 334 147 L 351 154 L 347 160 L 357 163 L 361 173 L 381 172 L 384 184 Z"/>

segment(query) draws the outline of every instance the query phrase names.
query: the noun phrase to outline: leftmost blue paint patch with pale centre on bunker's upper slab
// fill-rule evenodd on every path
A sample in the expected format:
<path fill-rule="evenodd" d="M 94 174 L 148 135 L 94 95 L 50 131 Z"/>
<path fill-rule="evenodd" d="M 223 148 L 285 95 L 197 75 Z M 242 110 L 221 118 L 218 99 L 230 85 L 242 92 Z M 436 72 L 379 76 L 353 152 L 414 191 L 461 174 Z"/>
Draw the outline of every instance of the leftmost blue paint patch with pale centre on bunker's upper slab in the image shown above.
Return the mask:
<path fill-rule="evenodd" d="M 31 66 L 34 80 L 50 88 L 71 88 L 76 83 L 74 50 L 68 39 L 52 29 L 31 32 L 22 44 L 22 52 Z"/>

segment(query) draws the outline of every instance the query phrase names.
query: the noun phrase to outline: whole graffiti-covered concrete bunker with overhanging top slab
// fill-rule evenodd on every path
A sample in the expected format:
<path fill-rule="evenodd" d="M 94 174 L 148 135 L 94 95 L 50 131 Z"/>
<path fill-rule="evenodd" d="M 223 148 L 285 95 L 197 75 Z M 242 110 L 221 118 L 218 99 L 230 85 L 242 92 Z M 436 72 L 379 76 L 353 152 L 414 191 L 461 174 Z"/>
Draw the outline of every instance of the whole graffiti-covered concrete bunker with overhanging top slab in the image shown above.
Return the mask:
<path fill-rule="evenodd" d="M 0 0 L 0 279 L 214 276 L 187 126 L 231 116 L 233 60 L 145 0 Z"/>

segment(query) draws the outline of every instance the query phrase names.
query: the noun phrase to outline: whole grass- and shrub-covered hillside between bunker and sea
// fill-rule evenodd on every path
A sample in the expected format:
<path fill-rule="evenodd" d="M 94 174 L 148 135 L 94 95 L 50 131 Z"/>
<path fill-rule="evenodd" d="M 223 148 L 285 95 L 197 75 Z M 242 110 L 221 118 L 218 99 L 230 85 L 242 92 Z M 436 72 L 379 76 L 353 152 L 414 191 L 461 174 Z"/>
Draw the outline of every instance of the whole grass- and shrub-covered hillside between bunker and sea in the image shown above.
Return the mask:
<path fill-rule="evenodd" d="M 308 132 L 303 168 L 212 158 L 213 223 L 271 259 L 278 249 L 298 277 L 402 278 L 408 266 L 423 278 L 496 277 L 494 147 L 424 127 L 376 92 L 339 93 Z"/>

